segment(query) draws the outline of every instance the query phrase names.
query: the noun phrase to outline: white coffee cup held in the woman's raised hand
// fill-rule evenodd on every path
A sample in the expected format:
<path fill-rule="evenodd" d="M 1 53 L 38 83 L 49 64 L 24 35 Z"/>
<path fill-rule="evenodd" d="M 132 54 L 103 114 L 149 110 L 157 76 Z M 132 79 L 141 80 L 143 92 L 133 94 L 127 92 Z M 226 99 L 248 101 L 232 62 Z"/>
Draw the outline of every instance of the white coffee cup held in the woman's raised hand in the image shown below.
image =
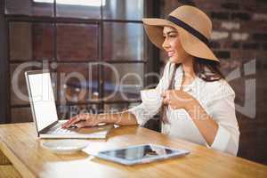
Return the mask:
<path fill-rule="evenodd" d="M 141 98 L 142 103 L 147 106 L 155 106 L 162 102 L 162 97 L 156 89 L 142 90 Z"/>

